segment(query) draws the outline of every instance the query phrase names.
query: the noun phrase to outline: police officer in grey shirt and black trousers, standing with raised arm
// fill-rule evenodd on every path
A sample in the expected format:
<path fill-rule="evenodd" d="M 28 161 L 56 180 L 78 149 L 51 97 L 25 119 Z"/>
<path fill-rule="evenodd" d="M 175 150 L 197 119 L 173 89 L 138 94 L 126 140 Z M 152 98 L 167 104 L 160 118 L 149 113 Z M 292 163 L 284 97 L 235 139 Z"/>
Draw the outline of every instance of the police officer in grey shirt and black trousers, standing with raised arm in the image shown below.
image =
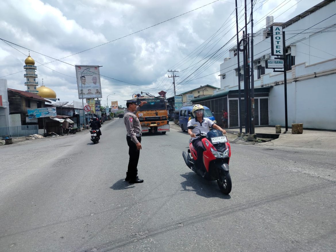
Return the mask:
<path fill-rule="evenodd" d="M 129 161 L 125 180 L 129 181 L 129 183 L 143 182 L 143 179 L 139 179 L 137 176 L 137 166 L 141 150 L 141 126 L 136 112 L 145 103 L 147 102 L 141 101 L 137 106 L 137 97 L 126 101 L 127 110 L 124 113 L 124 123 L 127 130 L 126 140 L 129 147 Z"/>

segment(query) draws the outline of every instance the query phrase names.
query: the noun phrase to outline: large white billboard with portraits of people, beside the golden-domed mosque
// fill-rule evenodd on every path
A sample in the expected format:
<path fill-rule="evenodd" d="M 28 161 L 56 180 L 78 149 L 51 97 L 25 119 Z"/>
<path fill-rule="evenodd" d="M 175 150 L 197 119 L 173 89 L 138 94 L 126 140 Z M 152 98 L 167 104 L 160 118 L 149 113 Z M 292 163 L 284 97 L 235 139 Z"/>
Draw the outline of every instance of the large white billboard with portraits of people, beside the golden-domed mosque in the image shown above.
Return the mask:
<path fill-rule="evenodd" d="M 101 98 L 99 66 L 76 65 L 78 99 Z"/>

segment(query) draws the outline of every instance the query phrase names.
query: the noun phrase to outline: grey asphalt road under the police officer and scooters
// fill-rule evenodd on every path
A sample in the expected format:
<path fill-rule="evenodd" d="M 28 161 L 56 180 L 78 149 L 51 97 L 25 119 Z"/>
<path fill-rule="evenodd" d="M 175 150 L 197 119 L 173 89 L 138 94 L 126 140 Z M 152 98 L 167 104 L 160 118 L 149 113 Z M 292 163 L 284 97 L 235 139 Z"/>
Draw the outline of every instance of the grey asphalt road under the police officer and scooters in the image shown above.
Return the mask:
<path fill-rule="evenodd" d="M 233 143 L 225 196 L 177 127 L 142 137 L 141 184 L 123 120 L 101 129 L 0 146 L 0 251 L 336 251 L 335 151 Z"/>

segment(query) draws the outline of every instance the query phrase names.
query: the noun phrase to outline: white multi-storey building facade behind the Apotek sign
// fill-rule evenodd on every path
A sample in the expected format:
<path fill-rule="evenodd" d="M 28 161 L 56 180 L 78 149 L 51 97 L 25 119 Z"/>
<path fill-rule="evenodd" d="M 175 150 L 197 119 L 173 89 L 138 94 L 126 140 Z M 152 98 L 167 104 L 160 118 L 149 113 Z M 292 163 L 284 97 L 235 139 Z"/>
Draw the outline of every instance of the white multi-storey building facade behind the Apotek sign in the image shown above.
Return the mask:
<path fill-rule="evenodd" d="M 322 1 L 285 23 L 272 24 L 282 26 L 285 31 L 289 126 L 303 123 L 304 128 L 336 130 L 335 9 L 336 1 Z M 270 55 L 270 26 L 253 36 L 254 87 L 270 87 L 269 125 L 284 126 L 284 74 L 265 69 L 265 61 L 275 57 Z M 241 68 L 242 59 L 240 53 Z M 229 50 L 229 57 L 224 59 L 220 69 L 221 90 L 217 93 L 237 90 L 236 47 Z M 243 82 L 241 88 L 244 88 Z"/>

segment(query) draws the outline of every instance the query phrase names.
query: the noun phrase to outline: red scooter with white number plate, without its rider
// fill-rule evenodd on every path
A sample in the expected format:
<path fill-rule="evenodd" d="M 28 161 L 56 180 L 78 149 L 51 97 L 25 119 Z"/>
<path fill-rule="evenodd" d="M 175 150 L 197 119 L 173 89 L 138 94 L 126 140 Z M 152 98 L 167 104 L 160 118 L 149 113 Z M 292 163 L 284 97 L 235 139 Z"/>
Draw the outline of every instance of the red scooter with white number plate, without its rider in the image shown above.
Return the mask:
<path fill-rule="evenodd" d="M 195 129 L 195 127 L 189 126 L 188 129 Z M 182 152 L 185 164 L 206 180 L 217 180 L 220 191 L 223 194 L 229 194 L 232 189 L 229 173 L 231 147 L 226 136 L 224 136 L 220 130 L 213 129 L 207 134 L 201 133 L 200 130 L 200 133 L 196 134 L 196 137 L 202 139 L 204 147 L 203 163 L 206 170 L 203 171 L 203 169 L 195 165 L 194 161 L 197 160 L 198 157 L 197 151 L 192 144 L 192 138 L 189 140 L 188 153 Z M 191 153 L 193 158 L 190 157 L 189 153 Z"/>

